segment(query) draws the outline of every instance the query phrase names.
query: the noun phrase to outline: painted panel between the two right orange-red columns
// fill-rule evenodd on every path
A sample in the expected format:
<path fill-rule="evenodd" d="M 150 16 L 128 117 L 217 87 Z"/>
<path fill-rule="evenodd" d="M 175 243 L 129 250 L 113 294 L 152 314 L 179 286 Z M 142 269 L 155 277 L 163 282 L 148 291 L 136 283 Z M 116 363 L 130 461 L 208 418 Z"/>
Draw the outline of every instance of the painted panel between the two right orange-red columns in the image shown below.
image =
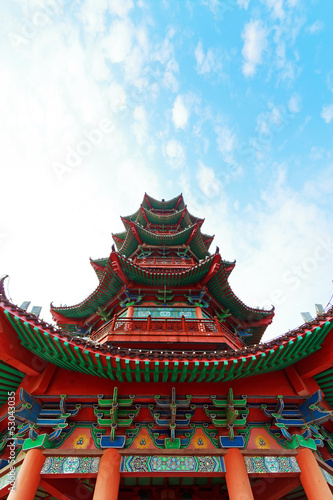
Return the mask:
<path fill-rule="evenodd" d="M 244 457 L 249 474 L 301 472 L 295 457 Z"/>

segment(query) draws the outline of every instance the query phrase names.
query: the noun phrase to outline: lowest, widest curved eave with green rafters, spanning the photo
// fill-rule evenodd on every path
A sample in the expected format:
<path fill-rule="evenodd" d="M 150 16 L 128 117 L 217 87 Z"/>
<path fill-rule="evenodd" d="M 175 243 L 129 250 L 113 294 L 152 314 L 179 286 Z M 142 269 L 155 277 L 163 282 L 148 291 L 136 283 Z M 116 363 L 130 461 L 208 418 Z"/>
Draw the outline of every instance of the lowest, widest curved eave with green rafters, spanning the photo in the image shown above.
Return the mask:
<path fill-rule="evenodd" d="M 225 382 L 284 369 L 311 355 L 332 330 L 333 308 L 299 329 L 266 344 L 238 351 L 170 352 L 100 346 L 66 335 L 14 306 L 4 297 L 0 310 L 22 345 L 40 358 L 71 371 L 111 380 Z"/>

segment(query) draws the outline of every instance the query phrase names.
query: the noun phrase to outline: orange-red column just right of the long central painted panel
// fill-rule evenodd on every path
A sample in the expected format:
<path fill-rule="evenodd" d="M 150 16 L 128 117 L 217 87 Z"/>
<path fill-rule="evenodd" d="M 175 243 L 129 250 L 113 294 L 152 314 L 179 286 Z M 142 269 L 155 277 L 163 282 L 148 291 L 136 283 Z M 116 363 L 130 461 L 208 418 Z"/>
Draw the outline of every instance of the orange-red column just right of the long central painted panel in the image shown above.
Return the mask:
<path fill-rule="evenodd" d="M 238 448 L 230 448 L 224 456 L 225 479 L 230 500 L 253 500 L 243 455 Z"/>

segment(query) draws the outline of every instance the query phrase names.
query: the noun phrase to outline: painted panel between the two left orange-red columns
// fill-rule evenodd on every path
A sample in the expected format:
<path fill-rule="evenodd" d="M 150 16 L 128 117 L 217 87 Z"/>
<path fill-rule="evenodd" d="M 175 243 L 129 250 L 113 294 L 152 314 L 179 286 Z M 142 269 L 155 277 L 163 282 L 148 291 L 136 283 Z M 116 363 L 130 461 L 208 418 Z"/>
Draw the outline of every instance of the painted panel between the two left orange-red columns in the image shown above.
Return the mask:
<path fill-rule="evenodd" d="M 41 474 L 97 474 L 99 457 L 46 457 Z"/>

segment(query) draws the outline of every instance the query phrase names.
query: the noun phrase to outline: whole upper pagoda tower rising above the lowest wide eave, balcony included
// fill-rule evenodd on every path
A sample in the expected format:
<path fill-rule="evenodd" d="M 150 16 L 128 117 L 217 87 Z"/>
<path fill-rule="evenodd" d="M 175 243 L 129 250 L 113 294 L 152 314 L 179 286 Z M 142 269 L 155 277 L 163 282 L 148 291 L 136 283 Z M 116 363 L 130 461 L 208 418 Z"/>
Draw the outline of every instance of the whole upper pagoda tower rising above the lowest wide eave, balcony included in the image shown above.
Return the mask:
<path fill-rule="evenodd" d="M 59 327 L 96 338 L 121 317 L 188 318 L 192 323 L 200 320 L 201 326 L 206 322 L 200 341 L 193 336 L 189 342 L 193 349 L 197 344 L 203 348 L 226 344 L 235 349 L 260 341 L 274 309 L 248 307 L 235 295 L 228 283 L 235 262 L 223 260 L 218 248 L 214 254 L 209 252 L 214 236 L 202 233 L 204 219 L 187 210 L 182 194 L 159 201 L 145 193 L 139 209 L 121 220 L 124 231 L 112 235 L 109 257 L 91 259 L 99 279 L 96 290 L 74 306 L 51 306 Z M 157 328 L 156 322 L 151 324 Z M 209 322 L 223 330 L 228 342 L 221 338 L 208 342 Z M 160 336 L 163 346 L 169 342 L 167 337 Z M 133 339 L 126 340 L 130 345 Z M 158 345 L 156 338 L 141 340 L 152 348 Z M 173 345 L 173 349 L 180 348 Z"/>

